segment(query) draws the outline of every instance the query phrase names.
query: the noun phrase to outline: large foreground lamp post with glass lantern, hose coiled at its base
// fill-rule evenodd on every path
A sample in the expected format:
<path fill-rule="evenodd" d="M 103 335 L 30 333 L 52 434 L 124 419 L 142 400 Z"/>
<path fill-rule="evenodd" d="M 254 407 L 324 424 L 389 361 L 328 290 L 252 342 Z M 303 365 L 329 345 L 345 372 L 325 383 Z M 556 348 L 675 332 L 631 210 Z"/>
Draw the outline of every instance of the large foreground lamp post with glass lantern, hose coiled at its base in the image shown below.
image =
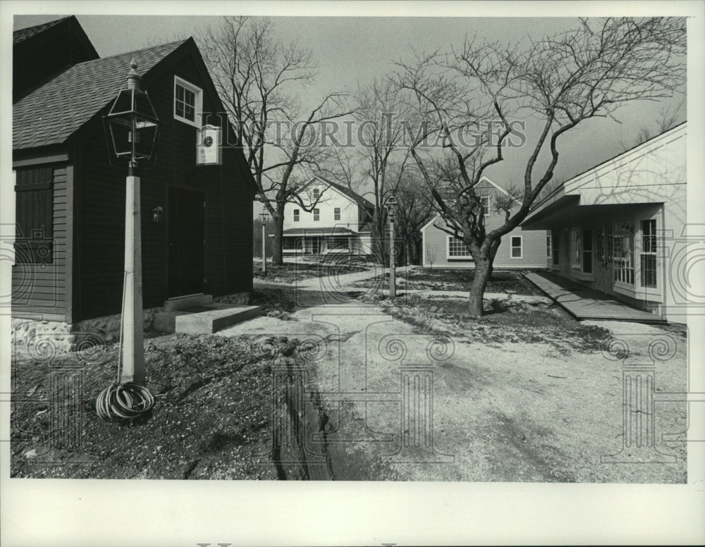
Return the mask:
<path fill-rule="evenodd" d="M 139 168 L 154 164 L 159 118 L 147 92 L 140 90 L 135 59 L 130 61 L 127 88 L 120 90 L 103 118 L 110 152 L 117 164 L 127 164 L 125 185 L 125 285 L 123 288 L 121 383 L 145 385 L 142 339 L 142 233 Z M 111 164 L 113 158 L 111 157 Z"/>

